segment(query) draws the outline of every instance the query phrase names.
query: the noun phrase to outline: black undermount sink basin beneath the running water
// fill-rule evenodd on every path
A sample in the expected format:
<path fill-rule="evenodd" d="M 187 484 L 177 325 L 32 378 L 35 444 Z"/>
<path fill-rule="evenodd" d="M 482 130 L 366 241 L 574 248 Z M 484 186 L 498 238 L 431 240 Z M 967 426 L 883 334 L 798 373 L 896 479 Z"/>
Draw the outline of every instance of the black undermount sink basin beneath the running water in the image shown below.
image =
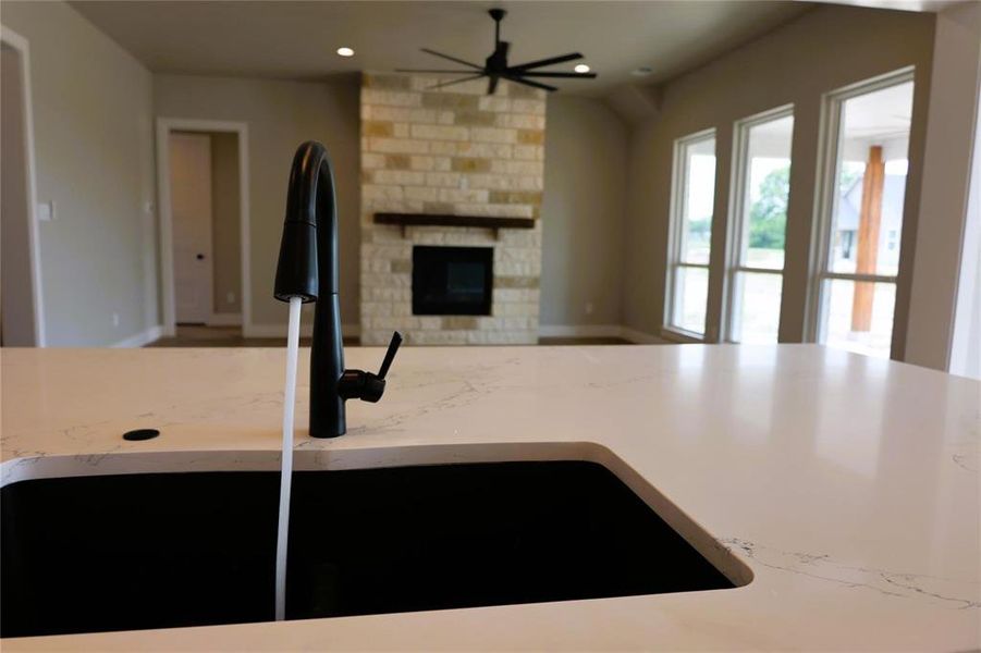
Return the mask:
<path fill-rule="evenodd" d="M 3 637 L 270 620 L 279 473 L 21 481 L 2 496 Z M 291 619 L 734 587 L 605 467 L 294 476 Z"/>

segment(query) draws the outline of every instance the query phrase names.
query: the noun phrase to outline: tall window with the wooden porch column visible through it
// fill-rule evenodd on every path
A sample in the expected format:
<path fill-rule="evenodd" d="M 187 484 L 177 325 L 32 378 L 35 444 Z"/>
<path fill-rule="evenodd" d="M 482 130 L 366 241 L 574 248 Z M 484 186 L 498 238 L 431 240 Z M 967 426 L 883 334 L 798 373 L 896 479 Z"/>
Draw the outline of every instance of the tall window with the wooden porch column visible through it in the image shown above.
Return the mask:
<path fill-rule="evenodd" d="M 890 355 L 912 90 L 905 71 L 826 99 L 814 328 L 832 347 Z"/>

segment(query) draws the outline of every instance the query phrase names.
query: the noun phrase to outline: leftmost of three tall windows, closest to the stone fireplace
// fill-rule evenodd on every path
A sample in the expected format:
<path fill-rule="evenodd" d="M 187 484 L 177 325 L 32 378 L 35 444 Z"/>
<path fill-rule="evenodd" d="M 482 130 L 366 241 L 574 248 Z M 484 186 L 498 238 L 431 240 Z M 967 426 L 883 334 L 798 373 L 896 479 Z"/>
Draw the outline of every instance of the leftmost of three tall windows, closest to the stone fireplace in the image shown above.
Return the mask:
<path fill-rule="evenodd" d="M 706 332 L 709 255 L 715 201 L 715 132 L 675 141 L 666 328 L 701 340 Z"/>

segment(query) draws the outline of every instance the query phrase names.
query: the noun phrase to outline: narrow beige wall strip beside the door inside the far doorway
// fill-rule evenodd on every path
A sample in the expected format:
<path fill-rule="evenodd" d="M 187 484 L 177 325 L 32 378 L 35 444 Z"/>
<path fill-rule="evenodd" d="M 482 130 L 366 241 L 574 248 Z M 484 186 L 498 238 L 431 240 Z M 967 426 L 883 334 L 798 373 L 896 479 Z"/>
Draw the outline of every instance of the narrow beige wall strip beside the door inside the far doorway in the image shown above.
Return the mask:
<path fill-rule="evenodd" d="M 211 251 L 217 313 L 242 312 L 242 238 L 240 236 L 238 135 L 211 136 Z M 229 301 L 229 293 L 234 299 Z"/>

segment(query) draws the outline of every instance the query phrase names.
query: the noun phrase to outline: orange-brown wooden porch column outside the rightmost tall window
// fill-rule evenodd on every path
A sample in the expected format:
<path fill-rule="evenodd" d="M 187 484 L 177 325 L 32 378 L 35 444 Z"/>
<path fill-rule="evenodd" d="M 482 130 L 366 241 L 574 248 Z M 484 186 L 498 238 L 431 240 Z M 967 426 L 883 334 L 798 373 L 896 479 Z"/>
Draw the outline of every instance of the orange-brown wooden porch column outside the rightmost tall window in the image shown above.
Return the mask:
<path fill-rule="evenodd" d="M 855 271 L 858 274 L 874 274 L 879 255 L 879 227 L 882 223 L 882 188 L 885 183 L 885 161 L 882 146 L 869 148 L 869 162 L 862 178 L 862 206 L 858 219 L 858 245 L 855 255 Z M 851 331 L 869 331 L 872 326 L 872 295 L 875 284 L 855 282 L 851 300 Z"/>

